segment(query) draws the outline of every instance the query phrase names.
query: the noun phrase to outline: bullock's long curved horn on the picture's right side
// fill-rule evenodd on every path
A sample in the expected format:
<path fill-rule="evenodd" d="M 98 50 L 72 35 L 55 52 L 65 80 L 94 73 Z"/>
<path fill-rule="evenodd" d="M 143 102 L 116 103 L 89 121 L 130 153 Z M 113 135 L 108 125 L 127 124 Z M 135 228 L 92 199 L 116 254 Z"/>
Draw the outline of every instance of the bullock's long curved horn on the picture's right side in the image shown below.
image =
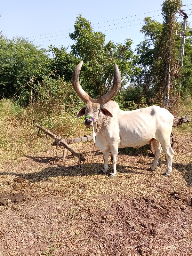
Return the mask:
<path fill-rule="evenodd" d="M 121 75 L 119 72 L 119 69 L 117 67 L 117 64 L 114 65 L 114 81 L 113 86 L 111 87 L 111 90 L 107 92 L 105 95 L 101 96 L 102 100 L 107 103 L 109 100 L 111 100 L 117 92 L 119 91 L 119 88 L 121 86 Z"/>

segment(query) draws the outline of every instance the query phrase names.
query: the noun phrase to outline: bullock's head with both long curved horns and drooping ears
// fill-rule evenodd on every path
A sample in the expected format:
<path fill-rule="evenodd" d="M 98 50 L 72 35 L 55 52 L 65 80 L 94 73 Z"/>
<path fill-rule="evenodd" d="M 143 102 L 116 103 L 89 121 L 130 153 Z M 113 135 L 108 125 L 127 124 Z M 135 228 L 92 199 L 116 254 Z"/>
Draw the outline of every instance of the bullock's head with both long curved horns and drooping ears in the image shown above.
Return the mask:
<path fill-rule="evenodd" d="M 115 64 L 114 82 L 111 90 L 105 95 L 101 96 L 99 99 L 94 100 L 82 89 L 81 85 L 79 84 L 79 73 L 82 65 L 83 61 L 81 61 L 73 71 L 72 84 L 78 96 L 83 100 L 83 102 L 86 103 L 86 106 L 77 113 L 77 117 L 85 116 L 84 124 L 87 127 L 90 127 L 93 125 L 93 122 L 97 120 L 99 111 L 101 111 L 105 116 L 112 117 L 112 114 L 106 108 L 104 108 L 103 105 L 111 100 L 119 91 L 121 85 L 121 76 L 119 69 Z"/>

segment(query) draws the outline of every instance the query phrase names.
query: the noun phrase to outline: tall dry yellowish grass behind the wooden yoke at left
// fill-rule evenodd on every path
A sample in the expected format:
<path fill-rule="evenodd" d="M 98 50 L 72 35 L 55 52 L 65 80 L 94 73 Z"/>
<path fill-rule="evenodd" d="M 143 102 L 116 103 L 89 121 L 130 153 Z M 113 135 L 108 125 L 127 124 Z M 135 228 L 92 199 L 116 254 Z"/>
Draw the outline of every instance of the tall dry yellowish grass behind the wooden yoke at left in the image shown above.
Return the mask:
<path fill-rule="evenodd" d="M 0 164 L 19 163 L 23 155 L 38 154 L 46 151 L 45 136 L 37 137 L 36 122 L 63 137 L 86 134 L 82 120 L 68 116 L 37 119 L 31 106 L 22 108 L 11 100 L 0 101 Z M 81 136 L 81 135 L 80 135 Z"/>

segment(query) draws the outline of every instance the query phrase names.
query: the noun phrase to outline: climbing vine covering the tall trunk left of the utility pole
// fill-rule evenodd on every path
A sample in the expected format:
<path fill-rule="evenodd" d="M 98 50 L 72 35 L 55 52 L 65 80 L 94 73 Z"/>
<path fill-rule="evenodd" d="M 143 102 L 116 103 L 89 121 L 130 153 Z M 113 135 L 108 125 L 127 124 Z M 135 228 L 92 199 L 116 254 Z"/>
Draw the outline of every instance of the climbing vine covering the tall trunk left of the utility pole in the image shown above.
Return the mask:
<path fill-rule="evenodd" d="M 168 83 L 168 73 L 170 75 L 170 107 L 174 107 L 177 101 L 177 92 L 175 90 L 174 64 L 178 59 L 175 15 L 181 8 L 181 0 L 165 0 L 162 5 L 163 30 L 154 54 L 154 63 L 152 68 L 152 79 L 155 84 L 155 100 L 162 102 L 163 96 L 167 93 L 166 85 Z M 170 66 L 170 70 L 169 70 Z"/>

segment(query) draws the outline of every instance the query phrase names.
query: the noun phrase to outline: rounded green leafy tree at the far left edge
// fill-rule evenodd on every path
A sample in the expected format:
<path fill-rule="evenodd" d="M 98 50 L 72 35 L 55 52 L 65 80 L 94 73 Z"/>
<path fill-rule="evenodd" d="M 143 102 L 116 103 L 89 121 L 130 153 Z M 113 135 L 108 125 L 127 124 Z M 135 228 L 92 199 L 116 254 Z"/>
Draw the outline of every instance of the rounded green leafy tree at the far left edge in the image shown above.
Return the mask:
<path fill-rule="evenodd" d="M 33 76 L 40 78 L 44 73 L 47 55 L 37 48 L 23 38 L 0 37 L 0 98 L 12 97 Z M 27 85 L 22 92 L 27 97 Z"/>

